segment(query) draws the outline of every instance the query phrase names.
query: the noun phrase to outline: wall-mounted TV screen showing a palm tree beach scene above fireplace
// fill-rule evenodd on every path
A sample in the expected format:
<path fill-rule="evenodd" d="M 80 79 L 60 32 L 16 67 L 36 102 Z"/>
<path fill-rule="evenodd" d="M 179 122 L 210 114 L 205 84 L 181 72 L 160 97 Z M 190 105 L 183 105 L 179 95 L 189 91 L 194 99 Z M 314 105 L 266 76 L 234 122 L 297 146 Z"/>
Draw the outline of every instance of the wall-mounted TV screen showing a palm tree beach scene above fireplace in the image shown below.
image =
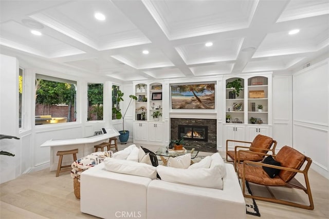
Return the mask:
<path fill-rule="evenodd" d="M 172 109 L 215 109 L 215 84 L 171 86 Z"/>

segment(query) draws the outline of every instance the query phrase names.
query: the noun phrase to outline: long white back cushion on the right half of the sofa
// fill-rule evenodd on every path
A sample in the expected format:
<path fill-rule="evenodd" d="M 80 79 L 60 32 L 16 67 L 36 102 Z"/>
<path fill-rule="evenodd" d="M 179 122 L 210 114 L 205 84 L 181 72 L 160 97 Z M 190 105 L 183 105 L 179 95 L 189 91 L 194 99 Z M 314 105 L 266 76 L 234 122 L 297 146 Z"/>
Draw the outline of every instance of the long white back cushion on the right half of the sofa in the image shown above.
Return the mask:
<path fill-rule="evenodd" d="M 163 181 L 223 189 L 223 180 L 218 165 L 213 168 L 197 169 L 178 169 L 159 165 L 156 167 L 156 171 Z"/>

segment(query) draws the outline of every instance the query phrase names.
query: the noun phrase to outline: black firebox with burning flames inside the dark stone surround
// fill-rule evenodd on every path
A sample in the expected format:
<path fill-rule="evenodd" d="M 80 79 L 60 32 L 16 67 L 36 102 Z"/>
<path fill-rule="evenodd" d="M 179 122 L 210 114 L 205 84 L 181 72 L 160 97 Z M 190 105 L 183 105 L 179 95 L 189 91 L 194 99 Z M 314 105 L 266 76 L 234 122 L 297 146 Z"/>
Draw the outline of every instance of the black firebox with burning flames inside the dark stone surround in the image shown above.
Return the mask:
<path fill-rule="evenodd" d="M 208 142 L 208 126 L 178 125 L 178 136 L 186 141 Z"/>

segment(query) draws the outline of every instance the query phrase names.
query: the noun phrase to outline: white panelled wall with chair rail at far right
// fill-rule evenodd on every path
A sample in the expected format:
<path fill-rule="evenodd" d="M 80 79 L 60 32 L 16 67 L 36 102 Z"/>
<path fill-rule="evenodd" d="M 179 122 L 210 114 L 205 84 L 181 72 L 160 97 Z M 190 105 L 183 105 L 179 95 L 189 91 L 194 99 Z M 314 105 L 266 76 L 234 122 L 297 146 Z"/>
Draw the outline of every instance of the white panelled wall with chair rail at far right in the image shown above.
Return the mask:
<path fill-rule="evenodd" d="M 328 59 L 293 75 L 294 148 L 313 160 L 312 168 L 329 178 Z"/>

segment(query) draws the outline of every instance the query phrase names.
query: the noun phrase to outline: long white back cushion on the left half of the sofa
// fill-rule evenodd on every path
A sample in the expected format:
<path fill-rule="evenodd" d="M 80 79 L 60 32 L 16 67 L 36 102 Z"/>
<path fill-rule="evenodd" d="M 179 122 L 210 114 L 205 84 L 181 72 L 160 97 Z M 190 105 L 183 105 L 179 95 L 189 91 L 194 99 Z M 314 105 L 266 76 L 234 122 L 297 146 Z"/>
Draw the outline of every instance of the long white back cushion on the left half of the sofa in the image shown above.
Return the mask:
<path fill-rule="evenodd" d="M 105 169 L 108 171 L 149 177 L 152 180 L 156 179 L 156 167 L 153 167 L 152 165 L 119 160 L 112 157 L 106 158 L 103 163 L 105 164 Z"/>

